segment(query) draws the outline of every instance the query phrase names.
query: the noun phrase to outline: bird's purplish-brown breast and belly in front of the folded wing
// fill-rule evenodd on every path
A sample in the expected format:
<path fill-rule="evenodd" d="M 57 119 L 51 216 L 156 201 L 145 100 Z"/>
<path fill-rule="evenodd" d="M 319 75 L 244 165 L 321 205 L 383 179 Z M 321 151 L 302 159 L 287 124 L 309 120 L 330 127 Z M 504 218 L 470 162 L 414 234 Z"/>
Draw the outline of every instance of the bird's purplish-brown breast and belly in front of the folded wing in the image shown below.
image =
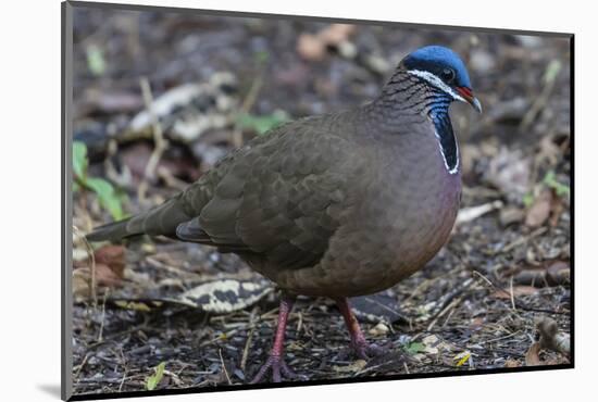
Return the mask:
<path fill-rule="evenodd" d="M 461 178 L 447 172 L 434 138 L 418 142 L 372 159 L 366 175 L 353 180 L 350 208 L 321 262 L 282 273 L 279 285 L 312 296 L 370 294 L 439 251 L 457 216 Z"/>

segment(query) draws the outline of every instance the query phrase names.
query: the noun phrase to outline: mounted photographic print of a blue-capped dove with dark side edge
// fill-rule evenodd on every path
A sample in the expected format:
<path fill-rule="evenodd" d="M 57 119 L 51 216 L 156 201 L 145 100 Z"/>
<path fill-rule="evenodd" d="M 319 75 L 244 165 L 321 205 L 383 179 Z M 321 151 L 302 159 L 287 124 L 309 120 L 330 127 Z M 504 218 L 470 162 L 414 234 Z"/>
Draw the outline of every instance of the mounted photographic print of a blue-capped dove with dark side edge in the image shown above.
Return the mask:
<path fill-rule="evenodd" d="M 572 60 L 63 3 L 63 399 L 573 367 Z"/>

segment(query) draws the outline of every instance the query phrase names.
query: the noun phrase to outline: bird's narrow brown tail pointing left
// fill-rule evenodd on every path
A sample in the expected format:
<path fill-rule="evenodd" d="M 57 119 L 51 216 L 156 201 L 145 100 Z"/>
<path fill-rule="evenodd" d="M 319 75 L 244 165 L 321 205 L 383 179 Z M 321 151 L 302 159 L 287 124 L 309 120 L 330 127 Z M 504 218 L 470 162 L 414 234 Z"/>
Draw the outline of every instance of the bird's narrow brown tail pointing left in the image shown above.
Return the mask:
<path fill-rule="evenodd" d="M 178 198 L 174 198 L 148 212 L 99 226 L 86 238 L 89 241 L 117 241 L 139 235 L 174 237 L 176 227 L 189 219 Z"/>

